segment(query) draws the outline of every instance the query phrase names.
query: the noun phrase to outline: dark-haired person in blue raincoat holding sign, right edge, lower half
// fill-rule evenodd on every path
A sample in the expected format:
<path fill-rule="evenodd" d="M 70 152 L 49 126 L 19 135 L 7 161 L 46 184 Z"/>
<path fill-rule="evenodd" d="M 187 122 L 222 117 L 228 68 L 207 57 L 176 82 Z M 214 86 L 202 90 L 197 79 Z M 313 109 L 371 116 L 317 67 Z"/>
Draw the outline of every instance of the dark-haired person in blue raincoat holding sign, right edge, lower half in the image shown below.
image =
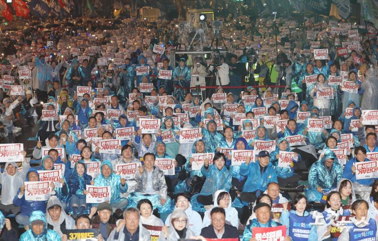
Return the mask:
<path fill-rule="evenodd" d="M 352 183 L 371 186 L 377 178 L 356 179 L 356 162 L 363 161 L 370 161 L 366 158 L 366 149 L 363 146 L 357 146 L 354 149 L 354 158 L 347 161 L 344 166 L 343 177 L 349 179 Z M 374 173 L 372 173 L 373 176 Z"/>

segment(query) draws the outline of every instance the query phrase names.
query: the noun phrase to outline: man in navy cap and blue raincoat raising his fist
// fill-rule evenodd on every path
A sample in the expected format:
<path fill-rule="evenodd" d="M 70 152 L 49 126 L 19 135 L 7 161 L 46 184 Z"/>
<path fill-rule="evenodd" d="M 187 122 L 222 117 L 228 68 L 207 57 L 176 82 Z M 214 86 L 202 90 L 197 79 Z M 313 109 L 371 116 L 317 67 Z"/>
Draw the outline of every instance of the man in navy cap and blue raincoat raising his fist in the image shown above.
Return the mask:
<path fill-rule="evenodd" d="M 240 166 L 240 175 L 247 177 L 240 199 L 247 203 L 254 202 L 256 197 L 266 190 L 269 183 L 278 182 L 276 170 L 269 161 L 269 152 L 260 151 L 256 158 L 256 162 L 252 162 L 252 158 L 247 158 Z"/>

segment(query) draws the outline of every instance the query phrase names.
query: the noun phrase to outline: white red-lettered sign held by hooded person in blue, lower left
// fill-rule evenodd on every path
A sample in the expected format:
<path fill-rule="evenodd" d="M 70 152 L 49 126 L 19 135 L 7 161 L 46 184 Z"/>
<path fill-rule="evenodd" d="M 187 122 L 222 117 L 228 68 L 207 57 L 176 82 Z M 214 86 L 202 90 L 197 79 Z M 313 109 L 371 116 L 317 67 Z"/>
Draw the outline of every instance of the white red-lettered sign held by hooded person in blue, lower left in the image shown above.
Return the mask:
<path fill-rule="evenodd" d="M 46 201 L 50 198 L 50 181 L 25 182 L 25 200 Z"/>

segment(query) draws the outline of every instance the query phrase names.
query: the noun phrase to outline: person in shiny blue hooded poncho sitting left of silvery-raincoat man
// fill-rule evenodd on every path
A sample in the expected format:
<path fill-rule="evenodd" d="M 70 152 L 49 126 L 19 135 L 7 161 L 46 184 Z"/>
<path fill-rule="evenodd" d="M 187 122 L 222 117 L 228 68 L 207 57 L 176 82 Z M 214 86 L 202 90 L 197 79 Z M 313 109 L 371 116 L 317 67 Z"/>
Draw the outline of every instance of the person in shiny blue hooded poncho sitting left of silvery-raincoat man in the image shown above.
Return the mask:
<path fill-rule="evenodd" d="M 111 190 L 110 204 L 113 210 L 125 209 L 127 205 L 127 199 L 121 197 L 121 193 L 126 193 L 127 184 L 124 178 L 117 175 L 113 171 L 113 165 L 110 161 L 104 160 L 100 164 L 101 174 L 98 175 L 94 181 L 91 181 L 91 185 L 96 187 L 108 186 Z"/>

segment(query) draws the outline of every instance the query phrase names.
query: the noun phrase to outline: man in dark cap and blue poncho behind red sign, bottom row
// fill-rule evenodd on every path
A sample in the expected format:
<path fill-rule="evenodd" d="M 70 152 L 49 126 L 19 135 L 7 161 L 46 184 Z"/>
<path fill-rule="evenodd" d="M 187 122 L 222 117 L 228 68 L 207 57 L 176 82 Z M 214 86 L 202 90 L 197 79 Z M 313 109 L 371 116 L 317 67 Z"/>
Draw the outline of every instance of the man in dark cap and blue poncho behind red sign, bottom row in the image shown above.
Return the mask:
<path fill-rule="evenodd" d="M 276 222 L 271 219 L 271 207 L 267 203 L 259 203 L 253 208 L 253 212 L 256 215 L 256 218 L 252 219 L 250 224 L 246 226 L 246 229 L 243 233 L 243 241 L 257 241 L 253 237 L 252 229 L 255 227 L 268 228 L 268 227 L 277 227 L 281 226 L 281 223 Z M 285 235 L 285 234 L 283 234 Z M 286 234 L 288 235 L 288 234 Z M 291 241 L 291 236 L 285 236 L 284 241 Z"/>

